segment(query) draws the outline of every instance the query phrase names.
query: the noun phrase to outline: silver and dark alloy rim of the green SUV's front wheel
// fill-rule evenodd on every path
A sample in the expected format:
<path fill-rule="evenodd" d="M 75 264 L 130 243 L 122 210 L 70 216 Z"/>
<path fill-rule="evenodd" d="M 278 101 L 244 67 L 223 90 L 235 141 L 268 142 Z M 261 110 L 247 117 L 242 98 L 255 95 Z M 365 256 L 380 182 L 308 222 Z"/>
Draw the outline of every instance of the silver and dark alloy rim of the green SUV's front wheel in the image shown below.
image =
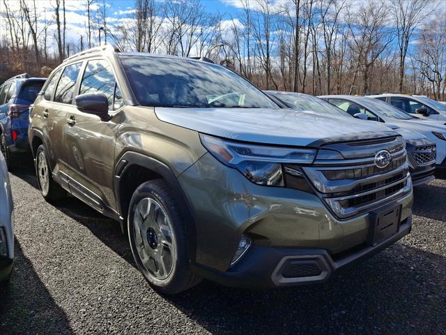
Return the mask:
<path fill-rule="evenodd" d="M 166 211 L 152 198 L 137 204 L 133 217 L 135 246 L 146 273 L 166 280 L 174 269 L 176 240 Z"/>

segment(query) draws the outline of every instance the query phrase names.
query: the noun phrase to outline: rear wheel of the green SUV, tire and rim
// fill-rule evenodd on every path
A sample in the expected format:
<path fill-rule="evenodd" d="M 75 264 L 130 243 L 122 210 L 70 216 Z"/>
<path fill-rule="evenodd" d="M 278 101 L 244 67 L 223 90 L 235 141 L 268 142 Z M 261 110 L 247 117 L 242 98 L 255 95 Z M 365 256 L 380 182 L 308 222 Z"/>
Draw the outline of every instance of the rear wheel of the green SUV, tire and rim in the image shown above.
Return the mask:
<path fill-rule="evenodd" d="M 66 191 L 54 181 L 49 168 L 45 146 L 40 144 L 36 150 L 36 177 L 40 193 L 48 202 L 54 202 L 66 196 Z"/>

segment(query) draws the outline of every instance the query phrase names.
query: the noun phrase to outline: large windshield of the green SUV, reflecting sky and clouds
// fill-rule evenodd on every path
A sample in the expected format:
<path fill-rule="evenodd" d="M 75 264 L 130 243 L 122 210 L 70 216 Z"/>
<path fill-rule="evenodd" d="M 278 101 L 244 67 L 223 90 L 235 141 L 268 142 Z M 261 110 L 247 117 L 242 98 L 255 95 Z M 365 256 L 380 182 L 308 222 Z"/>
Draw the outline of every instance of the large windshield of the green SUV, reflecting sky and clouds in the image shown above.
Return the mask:
<path fill-rule="evenodd" d="M 279 108 L 231 70 L 204 61 L 120 55 L 139 103 L 153 107 Z"/>

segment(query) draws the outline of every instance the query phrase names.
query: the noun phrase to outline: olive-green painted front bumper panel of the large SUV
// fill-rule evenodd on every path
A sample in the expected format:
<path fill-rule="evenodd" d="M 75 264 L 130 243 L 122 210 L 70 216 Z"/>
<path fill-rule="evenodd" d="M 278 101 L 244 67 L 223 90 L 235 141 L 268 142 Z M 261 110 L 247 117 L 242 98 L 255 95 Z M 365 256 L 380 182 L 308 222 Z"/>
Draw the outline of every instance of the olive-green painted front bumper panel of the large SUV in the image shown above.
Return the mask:
<path fill-rule="evenodd" d="M 247 266 L 245 260 L 259 247 L 297 252 L 318 249 L 339 255 L 367 241 L 368 212 L 339 220 L 318 195 L 253 184 L 210 154 L 180 174 L 178 181 L 195 223 L 195 255 L 191 258 L 197 269 L 233 271 Z M 412 192 L 392 203 L 401 205 L 402 222 L 410 218 Z M 229 267 L 242 234 L 252 237 L 253 246 L 240 265 Z"/>

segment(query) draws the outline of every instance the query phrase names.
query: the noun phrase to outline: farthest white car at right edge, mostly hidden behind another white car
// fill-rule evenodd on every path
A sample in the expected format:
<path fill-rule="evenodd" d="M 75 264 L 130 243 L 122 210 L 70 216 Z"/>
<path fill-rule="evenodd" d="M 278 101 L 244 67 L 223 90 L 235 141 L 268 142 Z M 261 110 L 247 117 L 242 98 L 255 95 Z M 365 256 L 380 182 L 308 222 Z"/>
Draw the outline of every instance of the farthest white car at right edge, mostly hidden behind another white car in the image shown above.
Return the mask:
<path fill-rule="evenodd" d="M 390 105 L 406 113 L 423 119 L 446 121 L 446 105 L 426 96 L 392 93 L 372 94 L 369 96 L 385 103 L 390 103 Z"/>

